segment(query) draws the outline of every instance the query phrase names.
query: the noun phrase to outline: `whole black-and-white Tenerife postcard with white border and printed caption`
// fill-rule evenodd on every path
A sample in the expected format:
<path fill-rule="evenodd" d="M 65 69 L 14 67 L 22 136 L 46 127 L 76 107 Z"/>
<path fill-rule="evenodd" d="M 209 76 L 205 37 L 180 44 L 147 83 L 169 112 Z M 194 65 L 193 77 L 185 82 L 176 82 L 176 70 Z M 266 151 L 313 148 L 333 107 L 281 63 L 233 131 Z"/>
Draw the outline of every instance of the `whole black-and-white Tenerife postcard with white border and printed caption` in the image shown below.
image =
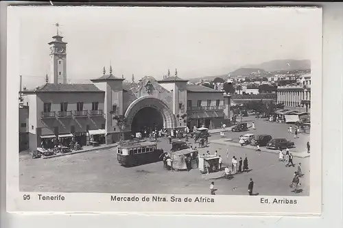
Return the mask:
<path fill-rule="evenodd" d="M 322 9 L 8 8 L 9 212 L 319 215 Z"/>

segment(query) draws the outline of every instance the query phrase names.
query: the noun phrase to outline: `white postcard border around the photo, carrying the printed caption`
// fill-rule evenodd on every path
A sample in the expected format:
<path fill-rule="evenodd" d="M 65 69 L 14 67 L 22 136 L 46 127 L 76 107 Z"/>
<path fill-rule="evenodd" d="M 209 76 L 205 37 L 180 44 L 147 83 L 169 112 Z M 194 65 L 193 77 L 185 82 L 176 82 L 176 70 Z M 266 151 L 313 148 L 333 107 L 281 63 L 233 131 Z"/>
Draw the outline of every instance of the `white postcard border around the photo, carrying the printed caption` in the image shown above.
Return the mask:
<path fill-rule="evenodd" d="M 177 10 L 177 9 L 176 9 Z M 39 201 L 38 194 L 43 192 L 19 192 L 19 156 L 18 156 L 18 92 L 19 92 L 19 36 L 20 19 L 18 8 L 8 8 L 8 69 L 7 69 L 7 104 L 6 114 L 6 153 L 7 153 L 7 210 L 8 212 L 117 212 L 140 214 L 291 214 L 291 215 L 320 215 L 322 207 L 322 10 L 311 8 L 318 14 L 318 21 L 314 21 L 314 29 L 318 36 L 313 37 L 314 49 L 311 56 L 311 173 L 309 197 L 248 197 L 248 196 L 211 196 L 215 203 L 115 203 L 110 196 L 152 196 L 152 194 L 97 194 L 97 193 L 67 193 L 61 192 L 64 201 Z M 316 102 L 313 102 L 316 101 Z M 23 200 L 29 194 L 32 199 Z M 58 195 L 56 193 L 47 193 Z M 160 197 L 171 194 L 160 194 Z M 201 197 L 201 195 L 176 195 L 185 197 Z M 261 197 L 268 199 L 296 199 L 296 205 L 263 205 Z M 257 213 L 259 212 L 259 213 Z"/>

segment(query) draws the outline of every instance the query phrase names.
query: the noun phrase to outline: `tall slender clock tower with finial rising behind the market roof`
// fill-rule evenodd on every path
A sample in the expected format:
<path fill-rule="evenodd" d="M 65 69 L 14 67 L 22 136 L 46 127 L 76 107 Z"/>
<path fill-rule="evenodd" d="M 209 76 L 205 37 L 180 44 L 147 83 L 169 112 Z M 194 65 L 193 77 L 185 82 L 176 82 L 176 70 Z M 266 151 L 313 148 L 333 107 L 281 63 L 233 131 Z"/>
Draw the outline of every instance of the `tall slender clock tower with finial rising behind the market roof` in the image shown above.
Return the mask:
<path fill-rule="evenodd" d="M 63 42 L 63 36 L 60 36 L 58 23 L 56 25 L 56 36 L 50 45 L 50 79 L 53 84 L 67 84 L 67 42 Z"/>

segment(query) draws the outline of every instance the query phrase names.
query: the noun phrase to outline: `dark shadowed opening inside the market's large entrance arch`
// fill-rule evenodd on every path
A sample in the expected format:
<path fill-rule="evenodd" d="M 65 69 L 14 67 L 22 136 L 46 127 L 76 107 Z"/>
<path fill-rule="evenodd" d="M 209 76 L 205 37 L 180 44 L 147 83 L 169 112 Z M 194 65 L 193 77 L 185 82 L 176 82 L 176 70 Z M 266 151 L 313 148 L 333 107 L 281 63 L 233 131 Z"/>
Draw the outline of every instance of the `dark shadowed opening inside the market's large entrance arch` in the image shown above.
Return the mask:
<path fill-rule="evenodd" d="M 147 134 L 156 130 L 163 128 L 163 116 L 161 112 L 156 110 L 154 107 L 143 107 L 141 110 L 134 115 L 131 124 L 132 134 L 141 132 L 142 135 L 144 131 L 147 131 Z"/>

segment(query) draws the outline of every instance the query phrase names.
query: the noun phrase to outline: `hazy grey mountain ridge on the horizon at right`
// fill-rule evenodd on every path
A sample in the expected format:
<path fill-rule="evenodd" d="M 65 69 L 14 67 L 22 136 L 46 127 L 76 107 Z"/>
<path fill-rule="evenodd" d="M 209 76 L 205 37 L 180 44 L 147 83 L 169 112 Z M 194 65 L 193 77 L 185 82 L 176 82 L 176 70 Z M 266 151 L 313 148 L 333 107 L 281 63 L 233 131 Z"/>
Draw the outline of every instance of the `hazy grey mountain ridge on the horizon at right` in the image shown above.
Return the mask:
<path fill-rule="evenodd" d="M 261 68 L 264 71 L 295 71 L 311 69 L 310 60 L 272 60 L 262 64 L 248 65 L 246 68 Z"/>

